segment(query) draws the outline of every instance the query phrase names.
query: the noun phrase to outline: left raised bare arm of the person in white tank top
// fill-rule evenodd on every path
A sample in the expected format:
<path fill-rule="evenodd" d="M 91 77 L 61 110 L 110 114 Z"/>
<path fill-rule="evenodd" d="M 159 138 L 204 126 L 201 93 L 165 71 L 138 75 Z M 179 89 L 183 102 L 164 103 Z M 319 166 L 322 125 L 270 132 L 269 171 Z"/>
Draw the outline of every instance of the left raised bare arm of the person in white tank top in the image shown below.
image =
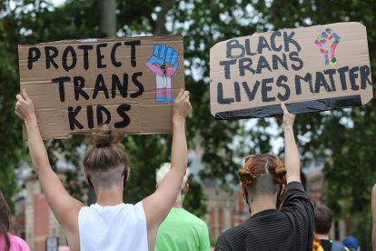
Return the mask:
<path fill-rule="evenodd" d="M 78 226 L 79 209 L 84 206 L 80 201 L 70 196 L 54 173 L 48 160 L 45 144 L 39 132 L 33 101 L 23 89 L 22 95 L 16 95 L 15 114 L 25 121 L 30 156 L 38 176 L 48 205 L 54 212 L 59 223 L 68 231 L 74 231 Z"/>

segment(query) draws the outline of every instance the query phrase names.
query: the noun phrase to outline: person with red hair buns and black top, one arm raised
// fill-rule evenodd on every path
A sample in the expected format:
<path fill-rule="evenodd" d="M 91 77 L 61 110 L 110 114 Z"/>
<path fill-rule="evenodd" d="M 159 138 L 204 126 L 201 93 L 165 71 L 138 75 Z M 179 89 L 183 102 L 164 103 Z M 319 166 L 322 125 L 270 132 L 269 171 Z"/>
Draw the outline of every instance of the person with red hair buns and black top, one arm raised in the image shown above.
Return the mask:
<path fill-rule="evenodd" d="M 239 178 L 251 216 L 218 237 L 217 251 L 312 251 L 313 206 L 301 183 L 300 157 L 292 129 L 295 115 L 284 104 L 281 106 L 284 164 L 270 154 L 245 158 Z"/>

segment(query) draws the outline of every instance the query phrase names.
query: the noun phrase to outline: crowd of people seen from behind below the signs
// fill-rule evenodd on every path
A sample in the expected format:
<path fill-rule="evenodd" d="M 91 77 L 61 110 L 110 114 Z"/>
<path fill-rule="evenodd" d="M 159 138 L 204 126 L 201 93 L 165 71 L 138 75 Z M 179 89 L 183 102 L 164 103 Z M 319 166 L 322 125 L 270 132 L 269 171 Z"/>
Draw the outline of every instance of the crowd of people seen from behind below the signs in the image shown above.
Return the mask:
<path fill-rule="evenodd" d="M 25 89 L 16 99 L 15 113 L 25 122 L 35 172 L 48 205 L 64 226 L 70 250 L 210 250 L 206 224 L 183 209 L 183 196 L 189 190 L 185 118 L 191 104 L 187 91 L 181 90 L 173 102 L 171 164 L 157 170 L 155 191 L 135 205 L 123 202 L 131 169 L 122 134 L 104 125 L 91 136 L 84 176 L 97 201 L 84 206 L 66 192 L 51 168 L 33 101 Z M 314 208 L 302 186 L 293 133 L 295 115 L 284 104 L 281 107 L 284 162 L 271 154 L 244 159 L 239 178 L 249 218 L 219 236 L 215 250 L 361 250 L 353 236 L 343 243 L 330 238 L 333 213 L 327 206 Z M 372 216 L 375 246 L 376 186 Z M 0 250 L 30 250 L 24 240 L 8 232 L 9 208 L 0 193 Z"/>

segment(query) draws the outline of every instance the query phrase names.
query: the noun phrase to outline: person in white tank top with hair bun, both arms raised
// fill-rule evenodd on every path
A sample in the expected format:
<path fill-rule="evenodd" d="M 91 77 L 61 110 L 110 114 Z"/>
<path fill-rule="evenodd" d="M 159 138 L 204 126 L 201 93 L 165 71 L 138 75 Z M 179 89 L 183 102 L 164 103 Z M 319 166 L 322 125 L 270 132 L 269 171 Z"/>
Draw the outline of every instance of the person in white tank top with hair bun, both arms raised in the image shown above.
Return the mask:
<path fill-rule="evenodd" d="M 45 198 L 64 226 L 72 251 L 153 250 L 158 227 L 178 195 L 187 166 L 185 118 L 191 111 L 189 92 L 180 90 L 173 102 L 172 168 L 155 192 L 136 205 L 124 204 L 124 186 L 131 167 L 121 143 L 123 136 L 101 126 L 84 155 L 84 176 L 97 201 L 84 206 L 70 196 L 51 168 L 39 132 L 32 99 L 25 89 L 16 95 L 15 114 L 24 119 L 30 155 Z"/>

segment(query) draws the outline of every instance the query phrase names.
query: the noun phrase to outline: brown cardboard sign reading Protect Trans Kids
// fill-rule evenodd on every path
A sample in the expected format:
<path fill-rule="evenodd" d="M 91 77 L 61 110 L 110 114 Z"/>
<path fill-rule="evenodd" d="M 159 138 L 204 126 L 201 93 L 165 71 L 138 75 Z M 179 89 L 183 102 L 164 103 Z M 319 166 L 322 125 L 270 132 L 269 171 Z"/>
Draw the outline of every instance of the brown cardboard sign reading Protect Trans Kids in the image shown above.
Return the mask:
<path fill-rule="evenodd" d="M 19 45 L 18 54 L 43 138 L 104 123 L 128 134 L 173 129 L 173 97 L 184 88 L 181 35 Z"/>

